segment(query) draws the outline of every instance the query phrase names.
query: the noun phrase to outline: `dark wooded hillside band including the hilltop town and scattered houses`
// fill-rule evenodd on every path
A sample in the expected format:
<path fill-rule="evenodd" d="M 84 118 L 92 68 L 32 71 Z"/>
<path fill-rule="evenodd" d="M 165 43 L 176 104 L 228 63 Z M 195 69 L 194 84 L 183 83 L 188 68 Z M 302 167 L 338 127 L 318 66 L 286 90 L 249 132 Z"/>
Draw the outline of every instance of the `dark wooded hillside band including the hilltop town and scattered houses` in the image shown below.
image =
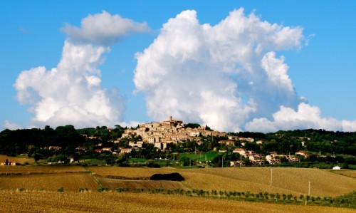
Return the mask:
<path fill-rule="evenodd" d="M 161 161 L 157 160 L 162 159 L 164 165 L 172 166 L 354 167 L 355 139 L 355 133 L 325 130 L 221 133 L 171 116 L 136 128 L 116 125 L 75 130 L 66 125 L 56 129 L 46 126 L 43 130 L 4 130 L 0 133 L 0 154 L 24 155 L 48 164 L 127 166 L 133 161 L 160 167 Z M 4 160 L 1 165 L 16 162 Z"/>

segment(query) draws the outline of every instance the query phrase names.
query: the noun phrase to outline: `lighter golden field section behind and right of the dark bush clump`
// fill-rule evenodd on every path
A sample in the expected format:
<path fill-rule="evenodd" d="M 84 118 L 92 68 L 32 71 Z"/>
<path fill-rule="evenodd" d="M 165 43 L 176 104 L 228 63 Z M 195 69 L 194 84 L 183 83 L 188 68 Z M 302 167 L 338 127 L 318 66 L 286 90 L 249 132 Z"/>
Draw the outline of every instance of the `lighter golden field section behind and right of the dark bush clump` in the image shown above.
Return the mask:
<path fill-rule="evenodd" d="M 155 173 L 179 172 L 185 181 L 184 187 L 204 190 L 236 190 L 241 192 L 274 192 L 286 194 L 307 194 L 310 181 L 310 195 L 335 197 L 356 190 L 356 179 L 337 175 L 330 170 L 303 168 L 234 167 L 205 169 L 132 168 L 132 167 L 90 167 L 89 170 L 102 177 L 142 180 Z M 115 180 L 120 182 L 120 180 Z M 337 183 L 337 184 L 336 184 Z M 110 187 L 111 185 L 108 185 Z"/>

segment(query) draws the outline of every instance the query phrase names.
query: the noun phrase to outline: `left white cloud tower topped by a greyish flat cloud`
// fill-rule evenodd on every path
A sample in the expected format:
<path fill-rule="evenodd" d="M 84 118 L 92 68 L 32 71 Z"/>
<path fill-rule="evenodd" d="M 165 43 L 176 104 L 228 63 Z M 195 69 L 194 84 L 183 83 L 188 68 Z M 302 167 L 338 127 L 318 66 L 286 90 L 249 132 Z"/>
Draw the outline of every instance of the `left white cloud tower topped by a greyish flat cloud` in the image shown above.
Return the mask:
<path fill-rule="evenodd" d="M 117 88 L 101 87 L 98 66 L 111 43 L 127 33 L 148 31 L 147 24 L 103 11 L 84 18 L 81 28 L 67 24 L 62 30 L 68 38 L 58 66 L 22 71 L 14 84 L 17 100 L 31 106 L 31 126 L 115 125 L 122 120 L 125 105 Z"/>

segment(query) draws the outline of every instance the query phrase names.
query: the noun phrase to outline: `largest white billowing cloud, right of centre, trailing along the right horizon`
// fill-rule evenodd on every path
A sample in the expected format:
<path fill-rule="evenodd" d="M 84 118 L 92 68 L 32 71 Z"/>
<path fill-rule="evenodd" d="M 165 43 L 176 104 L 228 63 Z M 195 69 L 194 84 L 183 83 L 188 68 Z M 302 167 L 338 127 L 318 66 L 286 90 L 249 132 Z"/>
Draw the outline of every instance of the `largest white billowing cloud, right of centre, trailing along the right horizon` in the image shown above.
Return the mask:
<path fill-rule="evenodd" d="M 303 28 L 270 24 L 244 9 L 214 26 L 182 11 L 137 53 L 134 82 L 154 120 L 173 115 L 221 131 L 356 130 L 356 122 L 322 118 L 295 92 L 277 53 L 303 41 Z"/>

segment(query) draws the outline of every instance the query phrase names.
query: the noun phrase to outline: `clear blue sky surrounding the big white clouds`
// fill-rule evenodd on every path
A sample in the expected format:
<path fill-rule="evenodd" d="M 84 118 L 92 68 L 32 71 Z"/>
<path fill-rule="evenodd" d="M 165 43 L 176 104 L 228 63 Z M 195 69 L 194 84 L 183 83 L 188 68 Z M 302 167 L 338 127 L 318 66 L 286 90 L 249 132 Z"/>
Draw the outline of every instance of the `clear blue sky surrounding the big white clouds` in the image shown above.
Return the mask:
<path fill-rule="evenodd" d="M 135 54 L 143 54 L 143 51 L 149 48 L 157 38 L 162 38 L 162 40 L 164 38 L 168 41 L 169 38 L 172 38 L 166 38 L 162 35 L 162 26 L 167 24 L 170 19 L 175 19 L 182 11 L 194 10 L 197 12 L 199 24 L 216 26 L 226 19 L 231 11 L 240 8 L 244 8 L 244 16 L 247 17 L 253 13 L 261 22 L 266 21 L 269 24 L 276 23 L 281 27 L 299 27 L 303 29 L 303 39 L 300 39 L 300 46 L 286 46 L 281 50 L 273 50 L 271 48 L 271 51 L 275 51 L 275 58 L 284 56 L 283 63 L 289 67 L 288 77 L 295 88 L 293 100 L 297 100 L 298 97 L 305 97 L 308 100 L 305 101 L 308 104 L 306 106 L 308 110 L 313 110 L 308 107 L 316 107 L 318 112 L 320 111 L 320 114 L 317 112 L 318 115 L 316 115 L 318 118 L 315 118 L 318 121 L 313 123 L 313 120 L 308 120 L 305 116 L 298 117 L 298 103 L 280 100 L 281 97 L 286 97 L 286 95 L 272 95 L 270 99 L 275 98 L 277 100 L 276 108 L 271 108 L 267 114 L 266 112 L 263 112 L 265 113 L 263 114 L 262 111 L 259 113 L 259 108 L 261 108 L 261 103 L 263 102 L 257 101 L 259 108 L 248 110 L 247 108 L 255 108 L 256 105 L 239 103 L 238 99 L 246 98 L 247 102 L 255 97 L 253 95 L 236 95 L 240 93 L 239 89 L 236 89 L 231 93 L 232 96 L 229 96 L 230 98 L 226 97 L 226 99 L 236 98 L 236 102 L 231 103 L 232 106 L 239 108 L 238 112 L 244 108 L 246 113 L 236 114 L 234 109 L 228 109 L 231 110 L 230 114 L 221 115 L 220 111 L 226 110 L 226 108 L 209 108 L 213 114 L 214 112 L 216 113 L 216 115 L 214 114 L 216 118 L 243 117 L 243 119 L 230 120 L 226 125 L 218 125 L 216 124 L 217 122 L 223 123 L 224 120 L 206 118 L 206 116 L 209 116 L 204 113 L 208 110 L 207 108 L 193 110 L 193 112 L 187 110 L 190 107 L 197 108 L 197 105 L 184 105 L 183 108 L 185 110 L 172 109 L 174 105 L 161 108 L 161 105 L 167 105 L 167 100 L 169 101 L 169 98 L 172 97 L 179 103 L 187 102 L 188 100 L 186 99 L 179 99 L 182 94 L 170 94 L 167 92 L 168 97 L 166 99 L 157 99 L 159 98 L 157 91 L 167 90 L 167 88 L 138 88 L 137 83 L 134 83 L 134 79 L 137 80 L 135 82 L 140 83 L 140 77 L 137 76 L 139 76 L 140 72 L 145 72 L 140 71 L 140 65 L 137 65 L 138 59 L 135 58 Z M 56 68 L 62 58 L 63 45 L 66 39 L 70 38 L 70 34 L 66 34 L 61 28 L 64 28 L 66 23 L 80 28 L 80 21 L 89 14 L 95 15 L 107 11 L 111 16 L 118 14 L 122 18 L 131 19 L 136 23 L 146 23 L 147 31 L 120 35 L 116 43 L 110 44 L 110 51 L 103 53 L 102 57 L 105 58 L 105 62 L 98 65 L 98 69 L 101 71 L 100 89 L 117 88 L 120 95 L 117 101 L 120 102 L 121 108 L 125 108 L 125 110 L 116 112 L 120 114 L 117 115 L 116 120 L 108 118 L 108 122 L 105 123 L 105 119 L 103 119 L 103 123 L 93 123 L 93 125 L 110 126 L 115 122 L 125 122 L 127 124 L 134 124 L 135 122 L 146 123 L 167 118 L 167 115 L 172 114 L 174 118 L 182 119 L 185 122 L 204 123 L 218 130 L 226 131 L 261 130 L 268 132 L 280 128 L 326 128 L 330 130 L 355 131 L 356 114 L 354 106 L 356 100 L 353 97 L 356 92 L 354 85 L 356 66 L 352 60 L 355 56 L 356 48 L 355 9 L 355 1 L 342 1 L 342 3 L 340 1 L 323 1 L 322 3 L 320 1 L 224 1 L 224 4 L 221 4 L 219 1 L 1 0 L 0 129 L 11 127 L 29 128 L 31 126 L 44 127 L 46 120 L 36 120 L 36 116 L 40 115 L 41 112 L 39 114 L 38 111 L 37 114 L 33 113 L 36 103 L 31 103 L 31 101 L 27 100 L 26 105 L 21 105 L 19 100 L 16 100 L 16 95 L 19 95 L 19 91 L 14 87 L 16 79 L 19 78 L 22 71 L 28 71 L 38 66 L 45 66 L 47 72 L 51 71 L 51 68 Z M 177 25 L 172 24 L 172 27 L 175 26 Z M 155 46 L 151 46 L 150 51 L 157 51 L 159 45 L 162 44 L 157 42 Z M 187 45 L 189 46 L 190 44 Z M 239 46 L 230 48 L 239 48 Z M 145 58 L 145 56 L 142 58 Z M 162 56 L 162 58 L 164 57 Z M 145 66 L 151 65 L 151 63 L 145 63 Z M 187 63 L 184 66 L 190 65 L 191 63 Z M 175 67 L 172 66 L 169 65 L 166 68 L 174 70 Z M 135 76 L 136 69 L 137 76 Z M 150 68 L 147 68 L 147 72 L 149 71 Z M 178 71 L 180 71 L 179 68 L 177 68 Z M 234 78 L 239 78 L 239 73 L 236 75 L 237 77 L 235 76 Z M 161 80 L 167 81 L 169 79 L 172 78 L 167 77 Z M 180 85 L 187 83 L 187 80 L 184 80 L 185 78 L 175 79 L 179 81 Z M 236 80 L 236 82 L 238 87 L 243 84 L 239 80 Z M 231 82 L 229 81 L 229 83 Z M 167 87 L 171 84 L 168 83 Z M 46 85 L 51 87 L 50 83 Z M 31 89 L 31 87 L 29 88 Z M 273 91 L 279 93 L 276 88 L 273 88 Z M 261 89 L 263 90 L 263 88 Z M 152 90 L 156 92 L 152 92 Z M 216 90 L 219 89 L 216 88 Z M 151 103 L 149 99 L 162 102 Z M 147 105 L 151 105 L 151 108 L 147 108 Z M 209 105 L 209 103 L 206 103 L 206 105 Z M 286 115 L 286 113 L 290 112 L 288 110 L 279 110 L 280 113 L 273 117 L 273 114 L 278 112 L 281 105 L 295 110 L 298 114 L 295 115 L 296 117 L 292 116 L 291 120 L 287 119 L 284 122 L 297 124 L 284 125 L 281 120 L 278 120 L 283 116 L 288 117 Z M 152 110 L 157 106 L 160 109 L 159 112 Z M 315 113 L 315 111 L 313 112 Z M 110 117 L 110 115 L 108 116 Z M 211 117 L 214 116 L 211 115 Z M 310 119 L 313 119 L 311 117 L 313 116 L 310 116 Z M 347 123 L 348 128 L 341 124 L 342 120 L 350 121 L 350 123 Z M 304 121 L 305 123 L 303 123 Z M 65 123 L 70 123 L 70 119 L 53 118 L 53 120 L 48 120 L 48 124 L 51 126 Z M 91 124 L 77 123 L 82 127 Z M 238 125 L 231 125 L 235 123 L 238 123 Z M 266 128 L 268 125 L 273 125 L 274 128 Z M 234 127 L 230 128 L 231 126 Z"/>

